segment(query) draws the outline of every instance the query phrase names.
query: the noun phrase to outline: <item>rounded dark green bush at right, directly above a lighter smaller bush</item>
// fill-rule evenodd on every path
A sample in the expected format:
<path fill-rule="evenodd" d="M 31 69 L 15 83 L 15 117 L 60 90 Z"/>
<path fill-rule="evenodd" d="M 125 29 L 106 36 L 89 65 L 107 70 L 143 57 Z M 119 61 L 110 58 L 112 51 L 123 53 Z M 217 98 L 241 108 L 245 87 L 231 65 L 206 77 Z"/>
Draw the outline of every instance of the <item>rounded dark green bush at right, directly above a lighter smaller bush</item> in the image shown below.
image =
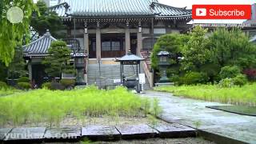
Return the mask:
<path fill-rule="evenodd" d="M 241 70 L 238 66 L 224 66 L 222 67 L 222 70 L 219 73 L 219 77 L 221 79 L 234 78 L 238 74 L 241 74 Z"/>

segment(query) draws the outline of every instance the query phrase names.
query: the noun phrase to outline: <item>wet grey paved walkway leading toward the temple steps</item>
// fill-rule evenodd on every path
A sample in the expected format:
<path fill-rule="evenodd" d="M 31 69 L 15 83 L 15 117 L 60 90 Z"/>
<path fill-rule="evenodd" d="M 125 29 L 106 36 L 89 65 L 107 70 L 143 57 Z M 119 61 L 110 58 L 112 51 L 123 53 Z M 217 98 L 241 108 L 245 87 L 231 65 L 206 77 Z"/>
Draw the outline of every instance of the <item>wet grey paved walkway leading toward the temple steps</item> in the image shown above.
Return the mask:
<path fill-rule="evenodd" d="M 213 110 L 206 106 L 222 106 L 218 102 L 205 102 L 190 98 L 178 98 L 169 93 L 146 91 L 142 97 L 158 98 L 162 106 L 162 119 L 179 122 L 214 134 L 234 138 L 242 142 L 256 143 L 256 117 Z"/>

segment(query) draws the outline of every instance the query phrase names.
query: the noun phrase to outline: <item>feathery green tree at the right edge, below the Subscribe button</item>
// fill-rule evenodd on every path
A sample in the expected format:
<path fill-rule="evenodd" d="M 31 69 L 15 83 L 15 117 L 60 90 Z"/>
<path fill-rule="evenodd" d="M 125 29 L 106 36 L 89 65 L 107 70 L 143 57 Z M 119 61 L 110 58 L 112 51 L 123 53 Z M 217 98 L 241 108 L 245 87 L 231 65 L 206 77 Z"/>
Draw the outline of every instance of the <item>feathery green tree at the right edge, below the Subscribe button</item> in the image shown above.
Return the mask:
<path fill-rule="evenodd" d="M 236 65 L 249 68 L 256 64 L 256 46 L 242 30 L 215 30 L 210 35 L 210 46 L 220 66 Z"/>

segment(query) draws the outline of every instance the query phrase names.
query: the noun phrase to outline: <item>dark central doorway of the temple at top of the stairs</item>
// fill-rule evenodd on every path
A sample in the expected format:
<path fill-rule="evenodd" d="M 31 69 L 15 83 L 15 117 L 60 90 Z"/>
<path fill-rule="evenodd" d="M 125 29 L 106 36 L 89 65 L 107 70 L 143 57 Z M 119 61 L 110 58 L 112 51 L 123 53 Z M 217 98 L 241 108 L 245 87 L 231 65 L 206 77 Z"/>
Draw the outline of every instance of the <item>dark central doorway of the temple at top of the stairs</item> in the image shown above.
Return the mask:
<path fill-rule="evenodd" d="M 120 58 L 126 54 L 124 34 L 102 34 L 102 58 Z"/>

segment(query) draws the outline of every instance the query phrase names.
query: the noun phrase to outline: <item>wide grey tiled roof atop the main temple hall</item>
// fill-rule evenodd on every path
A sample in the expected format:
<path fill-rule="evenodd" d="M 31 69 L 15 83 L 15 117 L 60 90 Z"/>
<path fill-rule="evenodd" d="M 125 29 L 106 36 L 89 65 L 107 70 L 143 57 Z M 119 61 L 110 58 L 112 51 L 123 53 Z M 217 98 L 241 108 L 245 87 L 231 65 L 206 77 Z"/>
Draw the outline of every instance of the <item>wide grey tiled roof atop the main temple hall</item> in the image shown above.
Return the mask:
<path fill-rule="evenodd" d="M 166 16 L 191 17 L 191 10 L 166 6 L 157 0 L 61 0 L 50 7 L 60 16 L 80 17 L 127 17 L 127 16 Z"/>

